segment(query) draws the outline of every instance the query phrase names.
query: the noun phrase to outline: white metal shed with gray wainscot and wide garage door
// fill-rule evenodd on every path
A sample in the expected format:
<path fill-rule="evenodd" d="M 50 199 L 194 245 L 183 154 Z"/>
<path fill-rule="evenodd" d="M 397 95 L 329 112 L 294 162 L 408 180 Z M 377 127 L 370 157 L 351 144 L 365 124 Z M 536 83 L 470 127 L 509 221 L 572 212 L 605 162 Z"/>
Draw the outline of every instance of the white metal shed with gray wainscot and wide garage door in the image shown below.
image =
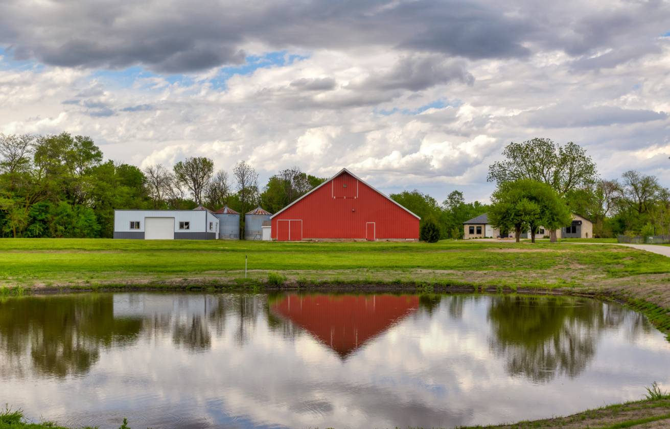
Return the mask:
<path fill-rule="evenodd" d="M 115 210 L 114 238 L 214 240 L 218 223 L 202 205 L 192 210 Z"/>

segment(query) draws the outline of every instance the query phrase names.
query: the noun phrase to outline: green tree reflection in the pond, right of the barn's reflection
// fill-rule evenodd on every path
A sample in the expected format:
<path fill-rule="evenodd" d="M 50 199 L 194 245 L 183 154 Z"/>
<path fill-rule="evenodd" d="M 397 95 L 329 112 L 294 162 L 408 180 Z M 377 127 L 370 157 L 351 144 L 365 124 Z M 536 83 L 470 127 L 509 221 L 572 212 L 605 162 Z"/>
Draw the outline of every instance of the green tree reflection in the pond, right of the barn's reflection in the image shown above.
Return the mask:
<path fill-rule="evenodd" d="M 536 382 L 576 377 L 594 357 L 604 329 L 619 327 L 625 315 L 635 317 L 632 327 L 649 329 L 642 315 L 586 298 L 498 296 L 488 311 L 490 345 L 507 359 L 510 375 Z"/>

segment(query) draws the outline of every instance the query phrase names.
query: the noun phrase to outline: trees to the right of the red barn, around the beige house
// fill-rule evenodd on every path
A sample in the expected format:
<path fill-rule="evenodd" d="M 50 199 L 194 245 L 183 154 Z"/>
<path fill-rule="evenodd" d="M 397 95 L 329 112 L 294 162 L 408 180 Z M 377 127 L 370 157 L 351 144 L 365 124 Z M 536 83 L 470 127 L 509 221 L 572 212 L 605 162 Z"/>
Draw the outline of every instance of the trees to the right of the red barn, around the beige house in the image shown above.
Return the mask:
<path fill-rule="evenodd" d="M 503 160 L 488 168 L 488 181 L 496 183 L 491 203 L 466 203 L 460 191 L 442 204 L 417 190 L 391 197 L 418 216 L 421 234 L 434 224 L 439 238 L 463 238 L 463 222 L 488 213 L 489 222 L 519 237 L 540 227 L 555 231 L 578 213 L 594 225 L 594 237 L 670 234 L 670 191 L 659 179 L 639 171 L 626 171 L 620 179 L 603 179 L 596 164 L 576 143 L 558 145 L 535 138 L 505 147 Z"/>

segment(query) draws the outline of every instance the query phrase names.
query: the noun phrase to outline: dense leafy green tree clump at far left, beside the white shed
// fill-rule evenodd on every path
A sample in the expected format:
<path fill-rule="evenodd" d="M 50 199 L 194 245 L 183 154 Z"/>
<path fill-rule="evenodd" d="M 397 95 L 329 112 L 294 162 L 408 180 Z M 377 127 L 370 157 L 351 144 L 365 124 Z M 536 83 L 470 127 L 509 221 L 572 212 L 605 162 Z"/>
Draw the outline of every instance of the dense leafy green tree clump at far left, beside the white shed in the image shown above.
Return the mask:
<path fill-rule="evenodd" d="M 146 183 L 90 137 L 0 136 L 0 236 L 111 237 L 114 209 L 149 206 Z"/>

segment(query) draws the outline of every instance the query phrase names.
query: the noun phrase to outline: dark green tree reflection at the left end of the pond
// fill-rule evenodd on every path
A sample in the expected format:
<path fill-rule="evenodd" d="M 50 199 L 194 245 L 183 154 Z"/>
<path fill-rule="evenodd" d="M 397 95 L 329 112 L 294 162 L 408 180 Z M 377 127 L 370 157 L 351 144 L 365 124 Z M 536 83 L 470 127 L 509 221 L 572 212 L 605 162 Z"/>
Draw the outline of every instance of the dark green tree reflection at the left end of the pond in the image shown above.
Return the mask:
<path fill-rule="evenodd" d="M 20 359 L 27 354 L 31 368 L 46 375 L 86 373 L 98 361 L 100 347 L 133 343 L 141 328 L 141 319 L 114 317 L 111 294 L 0 302 L 0 349 L 9 363 L 5 370 L 13 373 L 28 371 Z"/>

